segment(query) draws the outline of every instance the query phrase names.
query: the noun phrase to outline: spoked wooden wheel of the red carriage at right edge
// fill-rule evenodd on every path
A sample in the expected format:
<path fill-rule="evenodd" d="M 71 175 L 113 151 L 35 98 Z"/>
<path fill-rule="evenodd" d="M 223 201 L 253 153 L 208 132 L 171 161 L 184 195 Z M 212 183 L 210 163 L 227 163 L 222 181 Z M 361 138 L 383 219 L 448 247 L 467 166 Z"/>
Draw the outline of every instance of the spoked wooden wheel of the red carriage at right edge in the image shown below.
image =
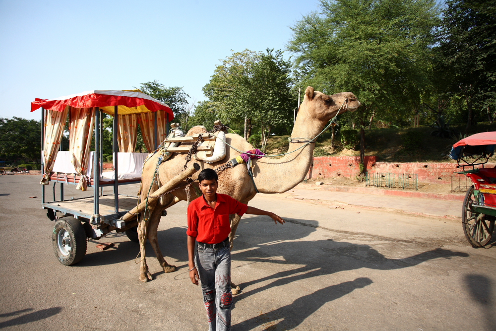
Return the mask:
<path fill-rule="evenodd" d="M 462 225 L 465 237 L 474 247 L 489 244 L 495 228 L 495 218 L 472 211 L 472 204 L 477 203 L 474 187 L 471 187 L 463 200 Z"/>

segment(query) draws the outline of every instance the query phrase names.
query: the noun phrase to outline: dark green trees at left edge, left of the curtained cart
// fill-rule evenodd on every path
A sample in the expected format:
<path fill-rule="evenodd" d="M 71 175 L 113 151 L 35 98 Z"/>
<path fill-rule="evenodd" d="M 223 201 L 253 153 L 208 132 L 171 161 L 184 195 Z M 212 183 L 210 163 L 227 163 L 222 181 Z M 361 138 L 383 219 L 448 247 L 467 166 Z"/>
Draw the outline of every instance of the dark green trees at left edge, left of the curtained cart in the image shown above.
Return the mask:
<path fill-rule="evenodd" d="M 41 160 L 40 121 L 20 117 L 0 118 L 0 156 L 8 159 Z"/>

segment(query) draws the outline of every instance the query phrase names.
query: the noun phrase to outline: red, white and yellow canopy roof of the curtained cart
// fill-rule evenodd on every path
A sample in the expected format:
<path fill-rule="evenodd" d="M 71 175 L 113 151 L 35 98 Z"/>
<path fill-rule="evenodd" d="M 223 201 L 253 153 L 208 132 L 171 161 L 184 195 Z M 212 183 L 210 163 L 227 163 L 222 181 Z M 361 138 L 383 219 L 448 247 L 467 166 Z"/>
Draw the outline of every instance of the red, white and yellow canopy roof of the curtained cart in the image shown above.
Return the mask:
<path fill-rule="evenodd" d="M 99 107 L 103 112 L 114 115 L 114 106 L 119 106 L 119 115 L 156 112 L 169 114 L 169 121 L 174 119 L 171 108 L 163 102 L 138 91 L 93 90 L 47 100 L 36 98 L 31 102 L 31 111 L 40 107 L 62 112 L 66 106 L 74 108 Z"/>

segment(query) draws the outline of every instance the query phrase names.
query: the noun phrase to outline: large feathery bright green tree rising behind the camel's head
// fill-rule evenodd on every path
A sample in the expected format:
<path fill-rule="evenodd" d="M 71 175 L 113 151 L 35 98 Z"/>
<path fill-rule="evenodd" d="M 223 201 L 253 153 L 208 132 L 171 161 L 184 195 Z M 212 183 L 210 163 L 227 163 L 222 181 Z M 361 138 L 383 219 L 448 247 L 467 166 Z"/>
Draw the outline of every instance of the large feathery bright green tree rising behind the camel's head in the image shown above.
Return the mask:
<path fill-rule="evenodd" d="M 288 48 L 297 55 L 301 86 L 350 91 L 362 102 L 346 116 L 360 125 L 363 163 L 372 115 L 380 119 L 420 104 L 437 7 L 434 0 L 321 0 L 320 9 L 292 28 Z"/>

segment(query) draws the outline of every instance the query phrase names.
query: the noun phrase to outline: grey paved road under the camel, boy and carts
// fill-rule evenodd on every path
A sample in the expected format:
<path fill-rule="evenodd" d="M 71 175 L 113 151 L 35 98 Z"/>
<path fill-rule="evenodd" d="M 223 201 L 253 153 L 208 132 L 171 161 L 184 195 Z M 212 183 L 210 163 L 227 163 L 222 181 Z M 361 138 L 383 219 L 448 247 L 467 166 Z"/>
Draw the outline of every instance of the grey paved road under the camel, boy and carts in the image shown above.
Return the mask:
<path fill-rule="evenodd" d="M 84 260 L 55 258 L 39 178 L 0 176 L 0 329 L 207 330 L 187 276 L 186 204 L 159 227 L 163 273 L 138 280 L 125 235 L 89 242 Z M 125 192 L 135 193 L 135 186 Z M 80 196 L 66 188 L 66 196 Z M 496 330 L 496 247 L 473 249 L 459 221 L 262 195 L 253 206 L 288 220 L 242 219 L 233 252 L 233 330 Z"/>

